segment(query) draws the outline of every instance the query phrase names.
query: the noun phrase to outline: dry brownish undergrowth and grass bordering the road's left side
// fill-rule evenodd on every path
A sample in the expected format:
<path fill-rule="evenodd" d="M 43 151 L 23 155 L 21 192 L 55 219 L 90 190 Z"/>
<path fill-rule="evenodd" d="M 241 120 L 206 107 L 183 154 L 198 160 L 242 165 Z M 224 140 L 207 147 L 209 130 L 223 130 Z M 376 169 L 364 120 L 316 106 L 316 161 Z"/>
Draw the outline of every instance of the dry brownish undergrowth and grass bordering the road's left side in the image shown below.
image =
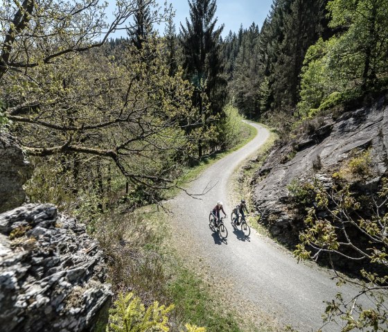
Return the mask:
<path fill-rule="evenodd" d="M 256 130 L 246 123 L 241 128 L 245 128 L 245 135 L 239 146 L 203 160 L 199 166 L 188 169 L 178 182 L 187 184 L 195 180 L 205 168 L 256 135 Z M 176 193 L 170 190 L 164 194 L 173 197 Z M 123 205 L 121 209 L 105 211 L 89 227 L 107 255 L 114 298 L 133 292 L 145 307 L 152 306 L 155 299 L 161 304 L 174 304 L 168 314 L 169 331 L 191 331 L 185 329 L 186 324 L 204 326 L 206 331 L 243 331 L 236 314 L 213 301 L 204 281 L 173 254 L 166 241 L 171 229 L 165 212 L 159 205 L 148 205 L 127 213 Z"/>

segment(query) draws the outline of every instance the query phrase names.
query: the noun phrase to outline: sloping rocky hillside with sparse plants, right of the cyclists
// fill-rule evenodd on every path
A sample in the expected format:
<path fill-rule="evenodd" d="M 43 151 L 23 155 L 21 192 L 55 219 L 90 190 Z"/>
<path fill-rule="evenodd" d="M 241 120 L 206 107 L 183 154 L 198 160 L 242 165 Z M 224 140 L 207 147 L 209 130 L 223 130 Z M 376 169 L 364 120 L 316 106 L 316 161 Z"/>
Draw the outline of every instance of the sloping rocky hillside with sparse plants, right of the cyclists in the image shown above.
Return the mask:
<path fill-rule="evenodd" d="M 304 121 L 289 141 L 274 147 L 254 177 L 254 203 L 272 235 L 294 244 L 303 229 L 303 209 L 314 200 L 297 209 L 295 186 L 317 179 L 332 188 L 333 174 L 342 171 L 357 195 L 378 191 L 388 168 L 387 98 L 382 94 L 353 110 Z M 362 156 L 360 165 L 349 166 Z"/>

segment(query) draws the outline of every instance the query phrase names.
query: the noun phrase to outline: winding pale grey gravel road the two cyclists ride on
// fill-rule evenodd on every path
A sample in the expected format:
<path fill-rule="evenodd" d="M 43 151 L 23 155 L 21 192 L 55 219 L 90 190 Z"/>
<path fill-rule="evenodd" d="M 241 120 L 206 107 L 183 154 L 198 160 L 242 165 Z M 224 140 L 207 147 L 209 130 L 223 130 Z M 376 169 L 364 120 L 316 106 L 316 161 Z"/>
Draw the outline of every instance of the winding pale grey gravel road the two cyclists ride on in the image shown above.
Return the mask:
<path fill-rule="evenodd" d="M 229 218 L 225 222 L 229 232 L 226 242 L 220 241 L 208 226 L 209 211 L 218 200 L 222 200 L 230 216 L 237 202 L 229 200 L 229 178 L 270 137 L 265 128 L 251 124 L 258 130 L 256 137 L 207 168 L 188 188 L 190 193 L 211 188 L 208 193 L 200 200 L 181 193 L 170 202 L 175 216 L 175 241 L 190 257 L 186 261 L 193 264 L 193 269 L 220 280 L 218 284 L 227 297 L 244 303 L 246 308 L 249 306 L 256 324 L 265 317 L 270 324 L 291 325 L 298 331 L 316 330 L 322 324 L 324 301 L 339 291 L 345 298 L 351 297 L 355 288 L 348 285 L 337 288 L 330 271 L 313 263 L 298 264 L 290 252 L 253 229 L 249 238 L 244 238 L 240 231 L 233 231 Z M 333 324 L 323 329 L 339 330 Z"/>

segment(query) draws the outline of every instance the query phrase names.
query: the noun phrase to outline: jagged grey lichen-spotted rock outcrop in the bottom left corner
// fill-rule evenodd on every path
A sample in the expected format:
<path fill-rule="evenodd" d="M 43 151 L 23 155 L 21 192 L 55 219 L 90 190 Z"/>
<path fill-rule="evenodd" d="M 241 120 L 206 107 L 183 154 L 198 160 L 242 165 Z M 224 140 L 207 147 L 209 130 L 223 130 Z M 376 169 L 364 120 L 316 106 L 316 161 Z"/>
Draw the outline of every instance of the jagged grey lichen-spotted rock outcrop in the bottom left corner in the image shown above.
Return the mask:
<path fill-rule="evenodd" d="M 51 204 L 0 214 L 0 326 L 90 331 L 109 302 L 103 253 L 85 226 Z"/>

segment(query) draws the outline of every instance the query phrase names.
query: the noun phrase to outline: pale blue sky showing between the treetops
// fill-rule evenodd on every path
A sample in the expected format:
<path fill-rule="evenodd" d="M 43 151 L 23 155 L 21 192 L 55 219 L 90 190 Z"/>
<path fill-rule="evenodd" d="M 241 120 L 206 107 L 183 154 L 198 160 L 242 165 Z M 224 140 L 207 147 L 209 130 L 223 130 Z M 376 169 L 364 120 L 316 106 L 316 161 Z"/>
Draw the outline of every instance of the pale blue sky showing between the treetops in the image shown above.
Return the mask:
<path fill-rule="evenodd" d="M 240 24 L 243 24 L 243 28 L 248 28 L 254 21 L 261 28 L 263 21 L 267 14 L 270 12 L 271 4 L 273 0 L 217 0 L 217 10 L 215 17 L 218 17 L 218 26 L 224 24 L 224 30 L 222 36 L 226 36 L 229 30 L 237 33 L 240 28 Z M 113 10 L 114 0 L 109 0 L 109 8 Z M 161 6 L 164 4 L 164 0 L 157 0 Z M 179 33 L 180 22 L 185 24 L 186 17 L 189 17 L 188 12 L 188 0 L 168 0 L 168 3 L 173 4 L 175 10 L 175 26 L 177 33 Z M 109 11 L 108 8 L 108 11 Z M 157 28 L 157 27 L 155 27 Z M 159 32 L 161 35 L 164 33 L 164 26 L 160 26 Z M 123 33 L 123 36 L 126 33 Z M 121 37 L 120 33 L 115 33 L 112 37 Z"/>

